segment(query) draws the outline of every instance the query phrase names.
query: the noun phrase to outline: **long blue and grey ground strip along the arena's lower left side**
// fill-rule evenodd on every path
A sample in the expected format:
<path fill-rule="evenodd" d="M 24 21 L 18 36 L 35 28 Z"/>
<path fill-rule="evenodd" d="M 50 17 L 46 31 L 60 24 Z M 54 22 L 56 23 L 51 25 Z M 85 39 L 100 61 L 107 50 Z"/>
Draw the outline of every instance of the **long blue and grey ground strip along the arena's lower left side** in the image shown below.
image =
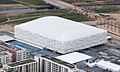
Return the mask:
<path fill-rule="evenodd" d="M 27 52 L 31 53 L 32 55 L 42 54 L 42 55 L 49 55 L 49 56 L 52 56 L 52 57 L 56 57 L 56 56 L 61 55 L 61 54 L 58 54 L 58 53 L 54 53 L 53 51 L 39 49 L 39 48 L 31 46 L 31 45 L 29 45 L 25 42 L 20 42 L 20 41 L 17 41 L 17 40 L 7 41 L 7 43 L 9 43 L 13 46 L 18 46 L 18 47 L 24 48 L 24 49 L 27 50 Z"/>

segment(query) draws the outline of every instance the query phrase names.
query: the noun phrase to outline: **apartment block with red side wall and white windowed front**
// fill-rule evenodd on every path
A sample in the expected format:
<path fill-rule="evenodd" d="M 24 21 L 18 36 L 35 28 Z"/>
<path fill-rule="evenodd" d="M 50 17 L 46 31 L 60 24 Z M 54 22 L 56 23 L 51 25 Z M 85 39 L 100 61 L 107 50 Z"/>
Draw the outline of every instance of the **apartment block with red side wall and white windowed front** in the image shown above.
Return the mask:
<path fill-rule="evenodd" d="M 9 51 L 10 53 L 12 53 L 12 60 L 13 62 L 16 61 L 22 61 L 22 60 L 26 60 L 27 59 L 27 52 L 26 49 L 20 48 L 20 47 L 16 47 L 16 46 L 3 46 L 0 45 L 0 48 Z"/>

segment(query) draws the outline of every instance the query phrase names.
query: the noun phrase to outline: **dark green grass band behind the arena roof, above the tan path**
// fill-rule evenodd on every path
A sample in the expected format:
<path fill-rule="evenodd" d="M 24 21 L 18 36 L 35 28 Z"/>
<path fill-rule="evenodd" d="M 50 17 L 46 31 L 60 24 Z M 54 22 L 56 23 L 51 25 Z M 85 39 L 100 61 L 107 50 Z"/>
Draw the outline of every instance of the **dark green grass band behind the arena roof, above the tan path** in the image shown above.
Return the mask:
<path fill-rule="evenodd" d="M 33 17 L 33 16 L 40 16 L 40 17 L 60 16 L 60 17 L 67 18 L 67 19 L 74 20 L 74 21 L 78 21 L 78 22 L 92 20 L 91 18 L 88 18 L 87 16 L 82 15 L 82 14 L 68 13 L 68 12 L 59 11 L 59 10 L 32 12 L 32 13 L 26 13 L 26 14 L 17 15 L 17 16 L 9 16 L 9 18 L 11 20 L 14 20 L 14 19 L 19 19 L 19 18 Z"/>

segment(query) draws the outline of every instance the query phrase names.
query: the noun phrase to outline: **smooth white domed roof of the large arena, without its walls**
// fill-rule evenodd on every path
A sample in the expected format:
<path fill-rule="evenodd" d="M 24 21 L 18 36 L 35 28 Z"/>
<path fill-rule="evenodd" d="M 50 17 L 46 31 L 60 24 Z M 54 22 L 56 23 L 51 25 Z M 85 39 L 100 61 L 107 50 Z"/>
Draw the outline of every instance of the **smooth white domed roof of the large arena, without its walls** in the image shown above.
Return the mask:
<path fill-rule="evenodd" d="M 42 17 L 30 22 L 16 25 L 15 29 L 17 28 L 35 34 L 40 34 L 49 39 L 60 42 L 66 42 L 106 32 L 103 29 L 56 16 Z"/>

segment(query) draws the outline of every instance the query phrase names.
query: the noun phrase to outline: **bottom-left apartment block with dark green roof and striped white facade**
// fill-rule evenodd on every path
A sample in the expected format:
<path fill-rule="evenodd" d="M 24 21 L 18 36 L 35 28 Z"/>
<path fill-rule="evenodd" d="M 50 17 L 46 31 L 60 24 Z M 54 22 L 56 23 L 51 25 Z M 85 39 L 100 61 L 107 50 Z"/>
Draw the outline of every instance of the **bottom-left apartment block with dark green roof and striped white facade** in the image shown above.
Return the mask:
<path fill-rule="evenodd" d="M 25 60 L 8 64 L 8 69 L 13 69 L 15 72 L 38 72 L 37 62 L 35 60 Z"/>

